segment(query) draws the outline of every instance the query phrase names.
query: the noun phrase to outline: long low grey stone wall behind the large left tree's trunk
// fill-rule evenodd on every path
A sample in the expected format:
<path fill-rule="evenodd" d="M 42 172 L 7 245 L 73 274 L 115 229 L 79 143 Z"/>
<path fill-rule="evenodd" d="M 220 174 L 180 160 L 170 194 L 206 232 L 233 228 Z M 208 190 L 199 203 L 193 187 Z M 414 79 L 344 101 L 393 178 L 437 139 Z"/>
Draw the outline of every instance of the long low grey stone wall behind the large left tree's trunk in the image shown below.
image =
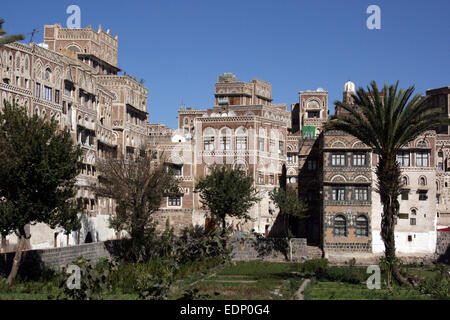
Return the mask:
<path fill-rule="evenodd" d="M 118 250 L 119 243 L 120 240 L 110 240 L 54 249 L 27 250 L 22 256 L 19 274 L 32 275 L 38 273 L 42 267 L 60 269 L 80 256 L 92 261 L 109 258 Z M 14 254 L 14 252 L 0 254 L 0 275 L 9 274 Z"/>

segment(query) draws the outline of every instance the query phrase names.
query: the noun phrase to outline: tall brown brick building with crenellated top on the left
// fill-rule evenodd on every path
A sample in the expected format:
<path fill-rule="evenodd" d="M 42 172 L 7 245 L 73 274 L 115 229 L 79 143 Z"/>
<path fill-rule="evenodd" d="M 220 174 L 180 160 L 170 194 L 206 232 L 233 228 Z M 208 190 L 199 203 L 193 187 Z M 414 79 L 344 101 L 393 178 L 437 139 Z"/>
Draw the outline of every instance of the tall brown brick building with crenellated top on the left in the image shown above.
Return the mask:
<path fill-rule="evenodd" d="M 83 150 L 77 179 L 85 204 L 82 228 L 70 235 L 47 225 L 31 226 L 29 247 L 45 248 L 116 237 L 109 228 L 112 199 L 96 197 L 96 160 L 139 152 L 147 143 L 147 89 L 135 79 L 117 75 L 118 37 L 110 31 L 44 27 L 44 43 L 13 43 L 0 48 L 0 97 L 16 101 L 29 114 L 54 118 L 69 128 Z M 3 107 L 3 105 L 2 105 Z M 2 239 L 2 250 L 16 239 Z"/>

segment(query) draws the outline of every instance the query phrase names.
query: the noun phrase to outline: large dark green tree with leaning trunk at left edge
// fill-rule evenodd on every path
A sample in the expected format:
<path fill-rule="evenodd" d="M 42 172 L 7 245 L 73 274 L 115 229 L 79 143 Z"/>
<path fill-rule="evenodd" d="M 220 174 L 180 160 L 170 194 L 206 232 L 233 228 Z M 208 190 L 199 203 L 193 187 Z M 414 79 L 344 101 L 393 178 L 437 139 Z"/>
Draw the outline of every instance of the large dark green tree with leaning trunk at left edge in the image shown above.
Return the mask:
<path fill-rule="evenodd" d="M 0 112 L 0 233 L 15 233 L 18 245 L 8 277 L 19 269 L 27 234 L 37 223 L 65 232 L 80 228 L 81 203 L 74 200 L 81 150 L 70 132 L 53 119 L 29 117 L 25 108 L 5 101 Z"/>

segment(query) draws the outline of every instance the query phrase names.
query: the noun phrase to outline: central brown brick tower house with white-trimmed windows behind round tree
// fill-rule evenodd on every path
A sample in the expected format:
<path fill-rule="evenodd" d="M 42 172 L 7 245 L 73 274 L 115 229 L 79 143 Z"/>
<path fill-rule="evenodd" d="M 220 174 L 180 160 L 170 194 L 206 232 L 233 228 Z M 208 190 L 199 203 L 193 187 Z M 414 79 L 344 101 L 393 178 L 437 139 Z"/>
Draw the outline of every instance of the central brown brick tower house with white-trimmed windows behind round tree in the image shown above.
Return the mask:
<path fill-rule="evenodd" d="M 253 221 L 230 219 L 235 230 L 274 232 L 276 210 L 268 192 L 279 184 L 286 161 L 287 127 L 290 114 L 286 105 L 271 104 L 270 83 L 253 79 L 238 82 L 230 73 L 219 76 L 215 105 L 207 110 L 182 108 L 178 130 L 170 144 L 159 145 L 182 176 L 185 193 L 179 199 L 166 199 L 163 219 L 178 215 L 190 224 L 205 224 L 195 182 L 215 164 L 240 166 L 250 174 L 262 200 L 250 210 Z M 173 151 L 175 150 L 175 151 Z M 181 224 L 176 227 L 182 226 Z M 185 225 L 184 225 L 185 226 Z"/>

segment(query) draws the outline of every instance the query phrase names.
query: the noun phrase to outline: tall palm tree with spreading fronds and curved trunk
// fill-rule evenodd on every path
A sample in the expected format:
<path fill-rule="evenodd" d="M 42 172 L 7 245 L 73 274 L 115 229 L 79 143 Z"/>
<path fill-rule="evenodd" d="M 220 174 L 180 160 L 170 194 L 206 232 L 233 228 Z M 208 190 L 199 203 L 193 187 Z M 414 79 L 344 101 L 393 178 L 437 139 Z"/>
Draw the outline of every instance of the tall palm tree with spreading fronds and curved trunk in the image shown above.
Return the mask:
<path fill-rule="evenodd" d="M 380 93 L 372 81 L 368 91 L 359 88 L 352 94 L 356 108 L 336 101 L 336 106 L 347 114 L 335 115 L 325 124 L 325 130 L 351 134 L 378 155 L 376 191 L 383 205 L 381 238 L 392 275 L 401 283 L 407 283 L 407 279 L 400 274 L 395 256 L 394 217 L 399 212 L 402 187 L 397 152 L 426 131 L 450 125 L 450 120 L 442 116 L 442 109 L 430 105 L 429 97 L 417 94 L 411 98 L 413 92 L 414 86 L 398 91 L 397 81 L 389 88 L 385 84 Z"/>

